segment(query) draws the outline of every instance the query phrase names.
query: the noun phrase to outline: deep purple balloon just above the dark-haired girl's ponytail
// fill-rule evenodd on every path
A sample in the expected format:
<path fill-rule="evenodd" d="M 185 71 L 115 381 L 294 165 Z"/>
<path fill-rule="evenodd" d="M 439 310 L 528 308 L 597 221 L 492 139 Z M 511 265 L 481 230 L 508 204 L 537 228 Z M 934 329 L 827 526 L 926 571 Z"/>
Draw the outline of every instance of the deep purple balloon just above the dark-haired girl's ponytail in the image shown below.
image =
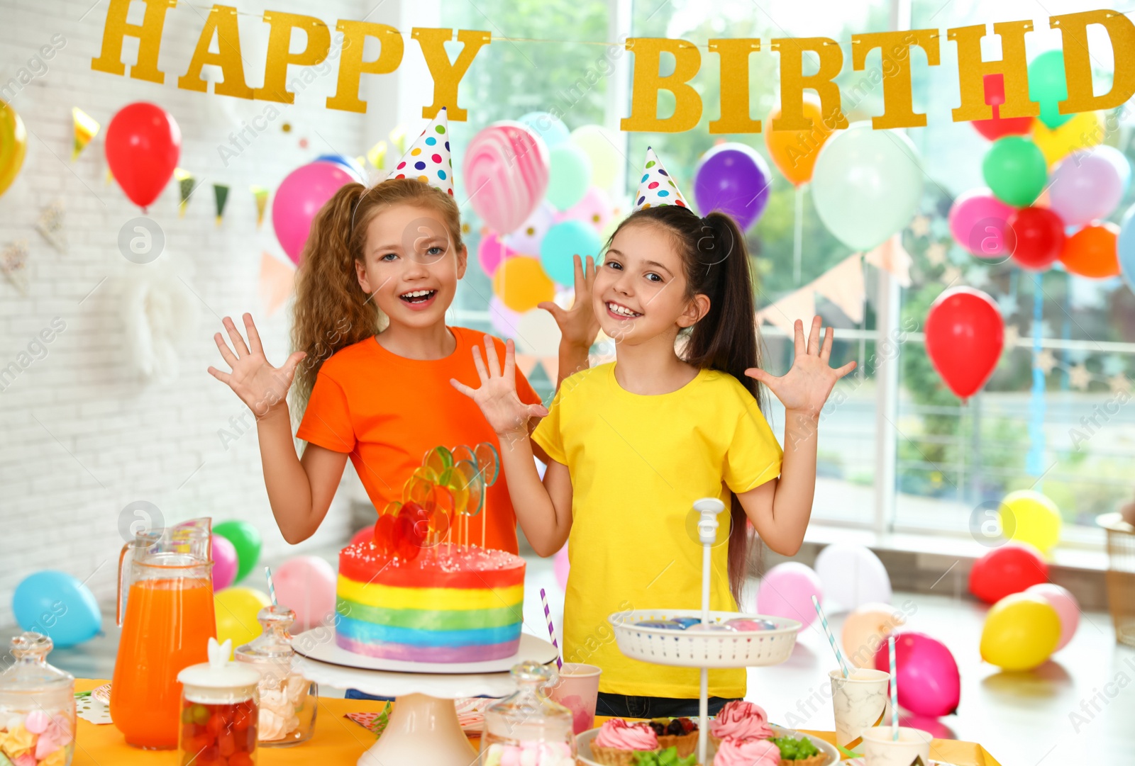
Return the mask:
<path fill-rule="evenodd" d="M 693 177 L 693 198 L 703 213 L 721 211 L 743 231 L 768 204 L 771 179 L 768 163 L 755 148 L 721 144 L 701 155 Z"/>

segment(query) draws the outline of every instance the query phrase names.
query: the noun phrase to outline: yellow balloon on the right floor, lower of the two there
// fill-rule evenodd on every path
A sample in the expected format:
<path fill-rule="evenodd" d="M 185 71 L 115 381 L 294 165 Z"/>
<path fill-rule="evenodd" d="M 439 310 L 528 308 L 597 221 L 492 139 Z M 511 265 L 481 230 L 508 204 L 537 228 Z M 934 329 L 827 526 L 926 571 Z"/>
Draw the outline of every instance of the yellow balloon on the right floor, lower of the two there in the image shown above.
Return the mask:
<path fill-rule="evenodd" d="M 1031 670 L 1049 658 L 1060 641 L 1060 615 L 1032 593 L 1006 596 L 985 615 L 982 659 L 1002 670 Z"/>

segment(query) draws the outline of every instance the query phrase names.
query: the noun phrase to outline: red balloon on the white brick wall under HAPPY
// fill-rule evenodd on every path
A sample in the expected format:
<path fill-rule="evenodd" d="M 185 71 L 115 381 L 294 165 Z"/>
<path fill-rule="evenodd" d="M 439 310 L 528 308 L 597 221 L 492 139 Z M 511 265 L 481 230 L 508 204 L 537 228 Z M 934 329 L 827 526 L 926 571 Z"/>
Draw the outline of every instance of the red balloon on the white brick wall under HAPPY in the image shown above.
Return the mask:
<path fill-rule="evenodd" d="M 144 211 L 174 175 L 182 154 L 182 129 L 165 109 L 140 101 L 118 110 L 103 146 L 115 180 Z"/>

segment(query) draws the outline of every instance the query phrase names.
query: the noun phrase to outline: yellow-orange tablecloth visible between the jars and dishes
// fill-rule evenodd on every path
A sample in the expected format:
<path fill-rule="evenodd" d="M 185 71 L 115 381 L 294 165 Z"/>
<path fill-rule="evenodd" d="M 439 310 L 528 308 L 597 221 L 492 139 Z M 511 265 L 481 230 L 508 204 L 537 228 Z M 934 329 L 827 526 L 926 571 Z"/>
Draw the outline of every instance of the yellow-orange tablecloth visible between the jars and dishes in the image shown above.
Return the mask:
<path fill-rule="evenodd" d="M 75 690 L 87 691 L 102 683 L 106 681 L 78 679 Z M 353 766 L 362 751 L 375 743 L 375 735 L 344 718 L 344 714 L 378 712 L 385 706 L 386 703 L 321 697 L 319 713 L 316 714 L 316 734 L 311 740 L 291 748 L 263 748 L 259 750 L 258 763 L 260 766 Z M 605 720 L 598 716 L 596 723 Z M 834 732 L 808 733 L 829 742 L 835 741 Z M 126 744 L 114 724 L 96 726 L 82 718 L 75 744 L 74 766 L 174 766 L 178 763 L 176 750 L 137 750 Z M 930 755 L 935 760 L 957 766 L 1000 766 L 982 746 L 973 742 L 934 740 Z"/>

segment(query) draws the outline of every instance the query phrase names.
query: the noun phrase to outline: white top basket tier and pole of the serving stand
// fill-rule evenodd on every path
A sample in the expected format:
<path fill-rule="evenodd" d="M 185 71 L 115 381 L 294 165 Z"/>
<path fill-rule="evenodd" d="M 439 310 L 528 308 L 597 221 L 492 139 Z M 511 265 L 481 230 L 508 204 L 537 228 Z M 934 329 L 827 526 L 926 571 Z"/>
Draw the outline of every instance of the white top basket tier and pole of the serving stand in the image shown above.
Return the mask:
<path fill-rule="evenodd" d="M 698 763 L 705 766 L 709 743 L 709 669 L 757 667 L 779 665 L 787 661 L 796 646 L 796 635 L 802 627 L 796 620 L 762 614 L 709 611 L 711 551 L 717 538 L 717 516 L 725 504 L 716 497 L 703 497 L 693 503 L 701 514 L 698 520 L 698 539 L 701 543 L 701 611 L 697 610 L 636 610 L 616 612 L 607 620 L 615 632 L 619 650 L 628 657 L 657 665 L 699 667 L 701 693 L 698 722 Z M 674 618 L 700 618 L 703 623 L 723 623 L 729 620 L 766 620 L 775 630 L 693 631 L 667 628 L 640 628 L 637 623 Z"/>

